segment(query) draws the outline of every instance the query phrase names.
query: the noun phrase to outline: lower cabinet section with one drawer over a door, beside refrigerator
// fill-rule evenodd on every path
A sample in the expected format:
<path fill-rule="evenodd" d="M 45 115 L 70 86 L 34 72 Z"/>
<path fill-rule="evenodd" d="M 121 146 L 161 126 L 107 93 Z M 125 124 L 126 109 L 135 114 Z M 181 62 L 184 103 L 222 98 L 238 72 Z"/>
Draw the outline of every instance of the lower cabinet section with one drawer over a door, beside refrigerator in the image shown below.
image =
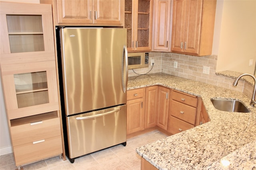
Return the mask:
<path fill-rule="evenodd" d="M 127 135 L 144 129 L 145 88 L 127 91 Z"/>

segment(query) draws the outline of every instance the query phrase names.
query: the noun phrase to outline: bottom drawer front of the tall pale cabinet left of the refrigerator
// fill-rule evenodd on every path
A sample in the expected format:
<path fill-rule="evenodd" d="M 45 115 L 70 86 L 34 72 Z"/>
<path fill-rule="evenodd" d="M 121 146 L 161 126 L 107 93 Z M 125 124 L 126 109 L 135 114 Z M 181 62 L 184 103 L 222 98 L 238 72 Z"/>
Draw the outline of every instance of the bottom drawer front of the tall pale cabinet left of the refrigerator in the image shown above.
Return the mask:
<path fill-rule="evenodd" d="M 61 136 L 14 146 L 16 166 L 62 154 Z"/>

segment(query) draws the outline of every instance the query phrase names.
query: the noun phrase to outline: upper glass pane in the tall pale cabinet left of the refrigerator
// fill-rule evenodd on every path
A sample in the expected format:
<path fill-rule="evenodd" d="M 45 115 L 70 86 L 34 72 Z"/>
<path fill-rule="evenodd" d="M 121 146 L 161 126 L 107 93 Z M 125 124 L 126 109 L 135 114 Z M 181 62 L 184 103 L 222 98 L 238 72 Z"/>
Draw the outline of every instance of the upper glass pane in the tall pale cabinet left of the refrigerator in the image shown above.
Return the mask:
<path fill-rule="evenodd" d="M 44 51 L 41 15 L 6 15 L 11 53 Z"/>

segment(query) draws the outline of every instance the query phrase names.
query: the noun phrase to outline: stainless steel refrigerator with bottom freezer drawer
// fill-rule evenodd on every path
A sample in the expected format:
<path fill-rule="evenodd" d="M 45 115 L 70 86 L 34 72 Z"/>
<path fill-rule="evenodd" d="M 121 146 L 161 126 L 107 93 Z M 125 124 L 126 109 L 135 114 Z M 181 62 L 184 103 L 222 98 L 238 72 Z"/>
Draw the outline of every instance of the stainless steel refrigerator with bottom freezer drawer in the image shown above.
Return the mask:
<path fill-rule="evenodd" d="M 126 29 L 56 27 L 66 155 L 126 145 Z"/>

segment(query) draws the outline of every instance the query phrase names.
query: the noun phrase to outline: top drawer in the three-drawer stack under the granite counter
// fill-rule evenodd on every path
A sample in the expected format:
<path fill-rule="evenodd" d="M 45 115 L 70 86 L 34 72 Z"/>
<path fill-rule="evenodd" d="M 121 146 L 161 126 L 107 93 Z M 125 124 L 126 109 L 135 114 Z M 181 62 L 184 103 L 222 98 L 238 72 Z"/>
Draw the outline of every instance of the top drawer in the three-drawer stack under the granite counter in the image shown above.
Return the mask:
<path fill-rule="evenodd" d="M 172 100 L 176 100 L 178 102 L 197 107 L 197 97 L 190 95 L 190 94 L 185 94 L 182 92 L 177 92 L 175 90 L 172 91 Z"/>

